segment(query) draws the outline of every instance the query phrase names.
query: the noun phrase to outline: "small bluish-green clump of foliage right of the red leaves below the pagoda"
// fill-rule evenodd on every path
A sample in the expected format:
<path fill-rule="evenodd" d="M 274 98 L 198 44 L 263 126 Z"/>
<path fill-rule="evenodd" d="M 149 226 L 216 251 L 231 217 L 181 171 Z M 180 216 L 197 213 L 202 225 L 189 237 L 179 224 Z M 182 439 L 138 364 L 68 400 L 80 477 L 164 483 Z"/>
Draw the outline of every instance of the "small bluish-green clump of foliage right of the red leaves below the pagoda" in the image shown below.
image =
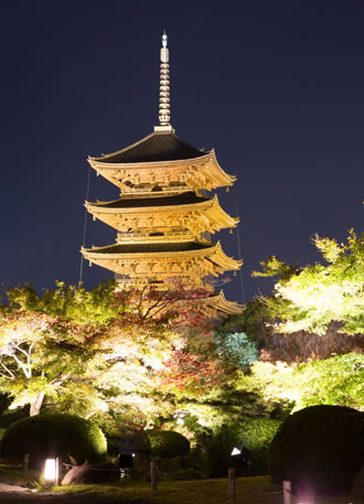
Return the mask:
<path fill-rule="evenodd" d="M 245 333 L 218 334 L 216 339 L 217 354 L 229 367 L 235 365 L 247 369 L 253 362 L 259 358 L 255 344 Z"/>

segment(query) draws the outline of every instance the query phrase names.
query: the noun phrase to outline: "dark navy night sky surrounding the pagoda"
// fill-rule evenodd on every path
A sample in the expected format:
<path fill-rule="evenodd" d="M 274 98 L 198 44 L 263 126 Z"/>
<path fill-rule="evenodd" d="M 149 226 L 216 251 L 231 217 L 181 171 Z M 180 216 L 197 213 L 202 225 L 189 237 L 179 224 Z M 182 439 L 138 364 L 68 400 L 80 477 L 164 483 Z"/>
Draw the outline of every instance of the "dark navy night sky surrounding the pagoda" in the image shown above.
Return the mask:
<path fill-rule="evenodd" d="M 237 175 L 245 299 L 268 255 L 319 260 L 315 233 L 362 228 L 364 2 L 8 1 L 0 11 L 0 282 L 77 283 L 87 157 L 158 125 L 169 36 L 171 124 Z M 236 215 L 234 192 L 218 192 Z M 90 175 L 89 201 L 118 197 Z M 217 236 L 215 235 L 214 239 Z M 220 234 L 238 257 L 236 232 Z M 115 230 L 87 218 L 86 246 Z M 224 287 L 242 301 L 239 277 Z M 113 274 L 85 264 L 90 288 Z"/>

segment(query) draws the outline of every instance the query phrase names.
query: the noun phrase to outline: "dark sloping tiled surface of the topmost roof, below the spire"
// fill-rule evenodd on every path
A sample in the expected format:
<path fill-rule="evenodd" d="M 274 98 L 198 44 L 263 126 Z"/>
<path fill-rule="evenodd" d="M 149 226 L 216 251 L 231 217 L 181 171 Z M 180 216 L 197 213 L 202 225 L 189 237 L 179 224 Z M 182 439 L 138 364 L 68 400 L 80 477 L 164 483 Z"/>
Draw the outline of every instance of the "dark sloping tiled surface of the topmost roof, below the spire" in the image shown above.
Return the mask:
<path fill-rule="evenodd" d="M 196 149 L 181 140 L 174 132 L 152 132 L 125 149 L 101 157 L 89 157 L 100 163 L 146 163 L 161 161 L 180 161 L 206 156 L 207 152 Z"/>

